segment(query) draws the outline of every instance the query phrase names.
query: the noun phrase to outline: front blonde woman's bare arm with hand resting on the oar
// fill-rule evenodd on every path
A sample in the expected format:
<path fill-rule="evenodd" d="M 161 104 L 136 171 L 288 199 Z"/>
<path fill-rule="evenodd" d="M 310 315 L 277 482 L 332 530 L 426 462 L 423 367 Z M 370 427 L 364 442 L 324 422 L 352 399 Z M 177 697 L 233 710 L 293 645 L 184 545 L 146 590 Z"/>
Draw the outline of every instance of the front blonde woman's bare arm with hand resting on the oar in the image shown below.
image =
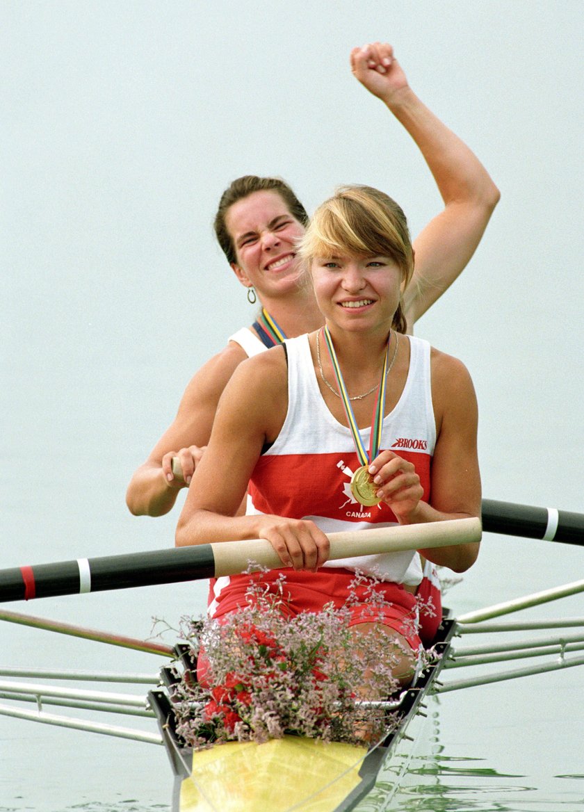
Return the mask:
<path fill-rule="evenodd" d="M 236 516 L 262 447 L 278 436 L 287 408 L 287 369 L 281 348 L 250 358 L 237 369 L 193 474 L 176 529 L 176 546 L 266 538 L 285 567 L 315 571 L 324 564 L 328 539 L 314 522 Z"/>

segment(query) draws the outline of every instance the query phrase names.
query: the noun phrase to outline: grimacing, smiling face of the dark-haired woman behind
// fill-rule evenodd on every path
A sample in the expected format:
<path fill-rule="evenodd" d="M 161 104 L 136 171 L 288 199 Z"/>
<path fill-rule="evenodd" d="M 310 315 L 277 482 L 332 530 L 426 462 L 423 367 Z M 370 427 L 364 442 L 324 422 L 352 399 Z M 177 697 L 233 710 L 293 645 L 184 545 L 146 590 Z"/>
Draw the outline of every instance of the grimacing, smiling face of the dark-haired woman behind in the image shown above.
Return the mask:
<path fill-rule="evenodd" d="M 260 296 L 279 296 L 296 287 L 296 243 L 305 228 L 278 192 L 253 192 L 228 209 L 225 222 L 236 249 L 231 263 L 240 282 Z"/>

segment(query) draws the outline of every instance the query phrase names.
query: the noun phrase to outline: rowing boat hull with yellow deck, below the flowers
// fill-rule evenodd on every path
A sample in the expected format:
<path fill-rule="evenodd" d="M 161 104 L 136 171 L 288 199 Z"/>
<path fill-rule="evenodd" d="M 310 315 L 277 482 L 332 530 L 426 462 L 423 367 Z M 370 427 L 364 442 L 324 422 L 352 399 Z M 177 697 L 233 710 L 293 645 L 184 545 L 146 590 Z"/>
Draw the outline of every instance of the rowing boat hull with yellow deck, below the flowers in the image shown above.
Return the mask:
<path fill-rule="evenodd" d="M 413 718 L 422 712 L 443 663 L 455 624 L 443 615 L 431 649 L 435 654 L 415 685 L 383 702 L 387 729 L 374 745 L 314 741 L 284 736 L 263 744 L 227 742 L 193 750 L 176 732 L 172 707 L 175 671 L 162 669 L 164 687 L 149 692 L 149 704 L 175 775 L 173 812 L 348 812 L 374 787 Z M 184 669 L 193 673 L 188 646 L 178 646 Z M 275 779 L 277 776 L 277 780 Z"/>

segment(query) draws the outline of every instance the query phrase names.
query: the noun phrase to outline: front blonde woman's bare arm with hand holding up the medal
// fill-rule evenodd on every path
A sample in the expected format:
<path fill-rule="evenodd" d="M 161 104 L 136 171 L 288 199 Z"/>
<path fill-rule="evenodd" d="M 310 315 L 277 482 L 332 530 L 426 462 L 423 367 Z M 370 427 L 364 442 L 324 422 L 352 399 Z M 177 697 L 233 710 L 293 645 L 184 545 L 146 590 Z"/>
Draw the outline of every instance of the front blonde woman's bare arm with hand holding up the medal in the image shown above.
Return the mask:
<path fill-rule="evenodd" d="M 434 349 L 432 400 L 437 438 L 430 501 L 422 501 L 422 486 L 413 464 L 393 451 L 382 451 L 370 467 L 374 482 L 379 484 L 378 495 L 383 494 L 403 525 L 481 515 L 478 409 L 473 382 L 461 361 Z M 435 564 L 464 572 L 477 558 L 478 543 L 419 552 Z"/>

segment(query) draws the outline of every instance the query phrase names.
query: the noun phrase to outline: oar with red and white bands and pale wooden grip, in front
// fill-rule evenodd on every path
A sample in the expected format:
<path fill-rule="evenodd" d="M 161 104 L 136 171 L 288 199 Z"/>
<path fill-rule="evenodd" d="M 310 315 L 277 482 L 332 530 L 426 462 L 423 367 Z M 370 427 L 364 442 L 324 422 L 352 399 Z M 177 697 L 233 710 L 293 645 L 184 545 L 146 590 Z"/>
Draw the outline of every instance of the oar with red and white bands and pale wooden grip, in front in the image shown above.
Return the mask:
<path fill-rule="evenodd" d="M 329 533 L 329 559 L 425 550 L 480 539 L 479 519 Z M 245 572 L 250 562 L 257 568 L 282 566 L 270 542 L 263 538 L 107 555 L 0 570 L 0 602 L 218 578 Z"/>

